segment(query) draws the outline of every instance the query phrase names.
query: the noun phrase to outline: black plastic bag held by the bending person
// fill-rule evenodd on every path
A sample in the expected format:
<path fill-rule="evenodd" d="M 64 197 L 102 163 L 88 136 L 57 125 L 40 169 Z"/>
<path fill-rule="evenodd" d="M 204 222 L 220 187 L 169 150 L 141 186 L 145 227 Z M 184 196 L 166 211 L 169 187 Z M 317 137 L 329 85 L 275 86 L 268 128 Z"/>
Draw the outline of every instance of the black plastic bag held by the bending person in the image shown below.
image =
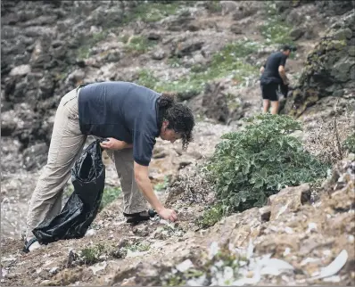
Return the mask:
<path fill-rule="evenodd" d="M 33 229 L 38 242 L 46 244 L 62 239 L 81 238 L 94 221 L 103 197 L 105 167 L 100 140 L 87 146 L 71 168 L 74 192 L 61 213 Z"/>

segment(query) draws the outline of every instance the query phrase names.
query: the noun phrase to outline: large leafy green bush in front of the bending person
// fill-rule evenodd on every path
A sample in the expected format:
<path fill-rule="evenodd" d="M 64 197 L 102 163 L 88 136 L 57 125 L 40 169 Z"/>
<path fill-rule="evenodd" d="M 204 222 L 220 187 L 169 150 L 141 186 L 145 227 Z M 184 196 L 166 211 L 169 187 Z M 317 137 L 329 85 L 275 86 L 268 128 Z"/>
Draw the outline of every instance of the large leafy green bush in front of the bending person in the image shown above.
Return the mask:
<path fill-rule="evenodd" d="M 244 130 L 223 135 L 207 165 L 217 199 L 233 211 L 262 206 L 287 185 L 312 183 L 326 177 L 320 163 L 291 134 L 301 130 L 285 115 L 245 119 Z"/>

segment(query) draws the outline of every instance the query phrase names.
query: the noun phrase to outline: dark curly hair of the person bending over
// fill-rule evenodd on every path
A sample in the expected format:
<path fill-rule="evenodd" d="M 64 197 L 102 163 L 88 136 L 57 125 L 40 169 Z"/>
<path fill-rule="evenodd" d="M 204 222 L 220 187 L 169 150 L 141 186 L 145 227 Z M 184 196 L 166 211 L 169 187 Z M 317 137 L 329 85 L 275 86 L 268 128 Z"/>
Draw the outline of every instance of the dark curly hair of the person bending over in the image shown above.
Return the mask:
<path fill-rule="evenodd" d="M 169 121 L 167 128 L 173 129 L 181 135 L 183 150 L 193 141 L 194 115 L 183 103 L 176 102 L 176 94 L 162 93 L 158 100 L 159 126 L 164 120 Z"/>

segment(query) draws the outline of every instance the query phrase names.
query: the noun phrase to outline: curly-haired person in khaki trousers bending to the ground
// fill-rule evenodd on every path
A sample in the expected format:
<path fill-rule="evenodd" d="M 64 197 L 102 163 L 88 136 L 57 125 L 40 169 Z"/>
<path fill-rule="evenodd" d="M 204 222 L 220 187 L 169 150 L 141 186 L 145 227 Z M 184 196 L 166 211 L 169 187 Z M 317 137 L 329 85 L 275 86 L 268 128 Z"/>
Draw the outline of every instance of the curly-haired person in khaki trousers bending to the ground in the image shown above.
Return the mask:
<path fill-rule="evenodd" d="M 87 135 L 107 139 L 101 146 L 120 176 L 123 214 L 128 222 L 147 220 L 156 213 L 175 221 L 175 210 L 166 209 L 153 192 L 148 166 L 156 137 L 170 143 L 181 139 L 185 150 L 193 128 L 192 111 L 175 102 L 172 94 L 159 94 L 134 83 L 88 84 L 65 94 L 55 114 L 48 160 L 29 204 L 24 250 L 40 246 L 33 228 L 60 213 L 63 187 Z M 155 211 L 147 210 L 145 200 Z"/>

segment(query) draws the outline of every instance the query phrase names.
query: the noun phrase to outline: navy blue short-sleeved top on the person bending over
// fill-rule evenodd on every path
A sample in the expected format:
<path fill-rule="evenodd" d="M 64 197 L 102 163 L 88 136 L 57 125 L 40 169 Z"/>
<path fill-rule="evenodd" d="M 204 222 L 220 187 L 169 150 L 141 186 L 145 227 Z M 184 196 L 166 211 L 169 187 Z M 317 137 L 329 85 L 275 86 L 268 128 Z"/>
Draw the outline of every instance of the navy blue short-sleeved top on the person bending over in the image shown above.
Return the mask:
<path fill-rule="evenodd" d="M 127 82 L 89 84 L 78 94 L 78 117 L 84 135 L 113 137 L 133 143 L 133 159 L 148 166 L 158 127 L 161 94 Z"/>

